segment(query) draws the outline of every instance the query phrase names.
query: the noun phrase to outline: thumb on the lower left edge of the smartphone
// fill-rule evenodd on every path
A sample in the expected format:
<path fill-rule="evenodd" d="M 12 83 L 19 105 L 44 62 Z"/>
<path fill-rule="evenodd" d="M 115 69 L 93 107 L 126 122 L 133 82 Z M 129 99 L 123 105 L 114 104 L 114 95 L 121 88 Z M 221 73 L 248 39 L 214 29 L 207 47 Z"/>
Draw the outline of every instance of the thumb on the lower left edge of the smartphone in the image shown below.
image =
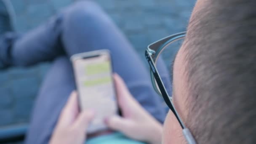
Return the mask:
<path fill-rule="evenodd" d="M 78 115 L 77 119 L 75 120 L 75 123 L 73 124 L 73 127 L 75 129 L 80 129 L 82 132 L 86 132 L 86 129 L 88 127 L 88 124 L 91 122 L 91 120 L 94 117 L 94 112 L 92 110 L 85 110 Z"/>

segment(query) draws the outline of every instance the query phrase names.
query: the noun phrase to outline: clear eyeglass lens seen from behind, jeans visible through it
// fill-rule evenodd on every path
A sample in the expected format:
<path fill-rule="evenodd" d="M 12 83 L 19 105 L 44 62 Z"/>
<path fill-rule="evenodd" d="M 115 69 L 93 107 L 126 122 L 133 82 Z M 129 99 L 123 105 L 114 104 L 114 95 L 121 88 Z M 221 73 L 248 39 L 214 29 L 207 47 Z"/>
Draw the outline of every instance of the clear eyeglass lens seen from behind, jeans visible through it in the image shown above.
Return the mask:
<path fill-rule="evenodd" d="M 169 43 L 156 59 L 157 70 L 170 97 L 172 96 L 173 61 L 182 43 L 183 39 Z M 153 85 L 156 86 L 157 92 L 161 93 L 155 80 L 153 80 Z"/>

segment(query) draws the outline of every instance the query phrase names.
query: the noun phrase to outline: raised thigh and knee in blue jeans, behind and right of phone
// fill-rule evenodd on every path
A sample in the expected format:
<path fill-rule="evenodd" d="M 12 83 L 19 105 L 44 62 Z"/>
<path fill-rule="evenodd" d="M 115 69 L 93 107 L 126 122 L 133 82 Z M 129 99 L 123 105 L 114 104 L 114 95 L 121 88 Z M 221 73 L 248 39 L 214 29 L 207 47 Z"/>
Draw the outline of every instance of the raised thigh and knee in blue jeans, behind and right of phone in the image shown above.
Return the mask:
<path fill-rule="evenodd" d="M 144 67 L 134 48 L 98 5 L 83 1 L 69 7 L 61 36 L 69 57 L 75 53 L 108 49 L 114 72 L 123 77 L 137 101 L 163 122 L 165 112 L 160 97 L 152 88 L 149 69 Z M 161 71 L 167 73 L 165 67 Z"/>

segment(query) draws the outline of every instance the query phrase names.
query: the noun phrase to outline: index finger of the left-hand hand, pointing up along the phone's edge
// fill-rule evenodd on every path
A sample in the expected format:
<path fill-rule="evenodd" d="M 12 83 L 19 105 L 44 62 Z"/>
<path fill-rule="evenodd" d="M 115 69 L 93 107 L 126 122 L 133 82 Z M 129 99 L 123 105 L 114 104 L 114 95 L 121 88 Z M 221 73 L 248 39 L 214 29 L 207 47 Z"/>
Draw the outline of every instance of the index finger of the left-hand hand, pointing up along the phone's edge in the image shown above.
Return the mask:
<path fill-rule="evenodd" d="M 72 124 L 77 117 L 78 112 L 79 107 L 77 101 L 77 93 L 73 91 L 67 100 L 67 104 L 64 106 L 61 112 L 61 116 L 59 118 L 60 125 Z"/>

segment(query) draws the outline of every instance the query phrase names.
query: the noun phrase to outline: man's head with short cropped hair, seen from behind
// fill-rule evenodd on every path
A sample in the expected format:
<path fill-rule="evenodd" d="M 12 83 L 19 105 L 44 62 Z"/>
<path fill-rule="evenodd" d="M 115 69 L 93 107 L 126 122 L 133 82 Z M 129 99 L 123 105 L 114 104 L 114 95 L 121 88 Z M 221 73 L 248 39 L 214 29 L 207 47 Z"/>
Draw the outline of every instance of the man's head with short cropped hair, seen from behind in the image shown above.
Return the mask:
<path fill-rule="evenodd" d="M 173 67 L 173 103 L 199 144 L 256 142 L 256 1 L 198 0 Z M 184 142 L 170 112 L 164 142 Z"/>

